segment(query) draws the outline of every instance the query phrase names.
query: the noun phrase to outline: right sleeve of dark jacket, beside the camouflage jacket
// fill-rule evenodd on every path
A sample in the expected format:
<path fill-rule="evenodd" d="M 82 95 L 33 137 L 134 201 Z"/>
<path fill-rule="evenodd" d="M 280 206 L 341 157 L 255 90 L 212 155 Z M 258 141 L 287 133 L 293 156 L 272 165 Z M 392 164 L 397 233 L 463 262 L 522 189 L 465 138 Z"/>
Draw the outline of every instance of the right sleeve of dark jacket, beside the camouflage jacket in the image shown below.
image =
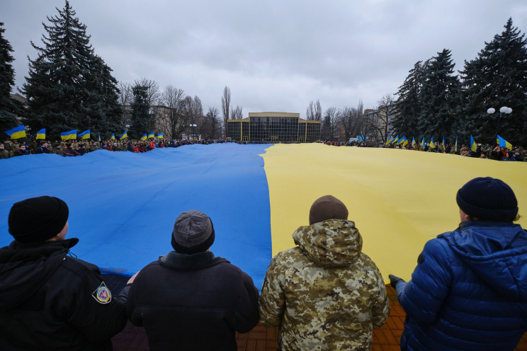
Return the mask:
<path fill-rule="evenodd" d="M 251 277 L 242 272 L 243 285 L 239 292 L 236 311 L 234 312 L 236 331 L 247 333 L 258 324 L 258 289 Z"/>

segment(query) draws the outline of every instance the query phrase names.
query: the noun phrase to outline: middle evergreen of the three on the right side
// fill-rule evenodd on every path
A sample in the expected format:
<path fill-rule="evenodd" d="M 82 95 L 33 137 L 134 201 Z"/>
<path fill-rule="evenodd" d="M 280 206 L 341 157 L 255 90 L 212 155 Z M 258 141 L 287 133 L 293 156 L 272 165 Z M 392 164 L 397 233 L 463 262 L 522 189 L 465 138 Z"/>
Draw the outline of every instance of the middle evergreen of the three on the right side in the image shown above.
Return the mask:
<path fill-rule="evenodd" d="M 419 115 L 419 135 L 442 139 L 455 138 L 453 124 L 455 111 L 459 105 L 460 82 L 454 76 L 454 63 L 450 50 L 443 49 L 432 57 L 423 69 L 421 87 L 421 115 Z"/>

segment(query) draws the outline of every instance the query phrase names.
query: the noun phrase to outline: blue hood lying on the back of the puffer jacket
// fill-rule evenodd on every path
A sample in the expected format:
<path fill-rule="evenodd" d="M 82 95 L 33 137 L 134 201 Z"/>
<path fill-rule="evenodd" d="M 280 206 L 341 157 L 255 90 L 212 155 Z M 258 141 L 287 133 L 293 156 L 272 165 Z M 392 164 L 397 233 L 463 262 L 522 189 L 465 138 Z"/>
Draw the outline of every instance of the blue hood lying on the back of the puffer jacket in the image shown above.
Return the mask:
<path fill-rule="evenodd" d="M 527 231 L 519 224 L 464 221 L 439 237 L 494 290 L 527 301 Z"/>

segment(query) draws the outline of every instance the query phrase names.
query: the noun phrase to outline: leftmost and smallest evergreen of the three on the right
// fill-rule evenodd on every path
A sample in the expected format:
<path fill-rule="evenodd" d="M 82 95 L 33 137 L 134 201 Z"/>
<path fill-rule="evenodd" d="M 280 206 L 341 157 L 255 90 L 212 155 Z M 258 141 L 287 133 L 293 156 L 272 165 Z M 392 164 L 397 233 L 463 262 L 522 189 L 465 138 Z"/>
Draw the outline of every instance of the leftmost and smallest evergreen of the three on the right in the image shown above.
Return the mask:
<path fill-rule="evenodd" d="M 421 115 L 421 86 L 423 67 L 421 61 L 414 64 L 402 86 L 397 91 L 395 102 L 395 117 L 392 120 L 393 133 L 415 137 L 419 134 L 419 116 Z"/>

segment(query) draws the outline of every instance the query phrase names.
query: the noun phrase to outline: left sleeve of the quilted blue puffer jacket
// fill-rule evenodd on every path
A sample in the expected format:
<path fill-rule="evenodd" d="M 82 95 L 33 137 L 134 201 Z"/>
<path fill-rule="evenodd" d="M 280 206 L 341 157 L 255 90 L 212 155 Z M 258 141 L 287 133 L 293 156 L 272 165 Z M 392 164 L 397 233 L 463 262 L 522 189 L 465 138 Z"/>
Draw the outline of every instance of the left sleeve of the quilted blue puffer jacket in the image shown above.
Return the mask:
<path fill-rule="evenodd" d="M 420 323 L 436 320 L 453 279 L 448 258 L 451 254 L 443 239 L 435 238 L 426 243 L 412 280 L 407 284 L 397 284 L 397 299 L 407 316 Z"/>

